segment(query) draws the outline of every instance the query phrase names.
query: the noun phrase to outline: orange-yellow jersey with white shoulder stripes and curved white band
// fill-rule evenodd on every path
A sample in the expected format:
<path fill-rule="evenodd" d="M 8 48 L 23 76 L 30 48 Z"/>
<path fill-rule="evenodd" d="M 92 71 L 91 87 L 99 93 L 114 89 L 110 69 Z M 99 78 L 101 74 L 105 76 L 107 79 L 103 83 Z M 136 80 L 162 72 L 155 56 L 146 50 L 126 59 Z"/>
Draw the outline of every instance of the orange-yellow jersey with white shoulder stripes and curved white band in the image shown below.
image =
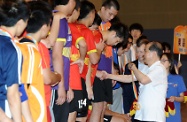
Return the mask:
<path fill-rule="evenodd" d="M 22 83 L 28 95 L 29 107 L 34 122 L 46 122 L 46 103 L 42 75 L 41 55 L 32 38 L 23 38 L 18 43 L 23 54 Z"/>

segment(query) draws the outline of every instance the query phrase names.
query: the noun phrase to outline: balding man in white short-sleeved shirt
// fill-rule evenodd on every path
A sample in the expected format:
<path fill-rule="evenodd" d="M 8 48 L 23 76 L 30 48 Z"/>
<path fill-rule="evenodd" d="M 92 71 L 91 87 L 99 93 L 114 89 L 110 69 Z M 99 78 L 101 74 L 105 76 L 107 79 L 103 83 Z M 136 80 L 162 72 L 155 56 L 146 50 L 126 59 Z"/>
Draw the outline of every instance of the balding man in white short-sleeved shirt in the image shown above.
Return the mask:
<path fill-rule="evenodd" d="M 162 46 L 159 42 L 150 42 L 145 49 L 145 63 L 148 73 L 143 74 L 131 63 L 129 69 L 140 82 L 138 108 L 135 119 L 141 121 L 165 122 L 165 97 L 167 91 L 167 73 L 160 63 Z"/>

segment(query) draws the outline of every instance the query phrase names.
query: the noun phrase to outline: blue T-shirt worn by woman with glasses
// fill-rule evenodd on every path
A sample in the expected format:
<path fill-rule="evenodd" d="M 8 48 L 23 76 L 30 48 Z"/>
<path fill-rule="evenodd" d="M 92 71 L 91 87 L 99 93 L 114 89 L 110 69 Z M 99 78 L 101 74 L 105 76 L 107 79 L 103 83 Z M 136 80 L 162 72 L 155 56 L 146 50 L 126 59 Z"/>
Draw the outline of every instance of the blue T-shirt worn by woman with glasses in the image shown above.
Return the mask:
<path fill-rule="evenodd" d="M 179 97 L 181 93 L 186 91 L 186 87 L 183 78 L 180 75 L 168 75 L 168 90 L 167 98 L 171 96 Z M 174 101 L 175 115 L 169 115 L 166 117 L 166 122 L 182 122 L 181 120 L 181 108 L 180 102 Z"/>

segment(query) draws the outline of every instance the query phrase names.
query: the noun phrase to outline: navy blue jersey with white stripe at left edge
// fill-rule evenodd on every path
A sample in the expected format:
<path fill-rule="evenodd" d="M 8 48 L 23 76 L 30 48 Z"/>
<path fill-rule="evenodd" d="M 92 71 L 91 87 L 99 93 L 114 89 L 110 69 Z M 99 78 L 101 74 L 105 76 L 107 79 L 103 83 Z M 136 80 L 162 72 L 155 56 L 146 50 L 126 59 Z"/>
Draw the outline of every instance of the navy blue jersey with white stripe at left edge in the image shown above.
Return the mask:
<path fill-rule="evenodd" d="M 21 51 L 6 30 L 0 29 L 0 108 L 11 116 L 7 101 L 7 88 L 20 83 Z M 14 74 L 14 75 L 12 75 Z"/>

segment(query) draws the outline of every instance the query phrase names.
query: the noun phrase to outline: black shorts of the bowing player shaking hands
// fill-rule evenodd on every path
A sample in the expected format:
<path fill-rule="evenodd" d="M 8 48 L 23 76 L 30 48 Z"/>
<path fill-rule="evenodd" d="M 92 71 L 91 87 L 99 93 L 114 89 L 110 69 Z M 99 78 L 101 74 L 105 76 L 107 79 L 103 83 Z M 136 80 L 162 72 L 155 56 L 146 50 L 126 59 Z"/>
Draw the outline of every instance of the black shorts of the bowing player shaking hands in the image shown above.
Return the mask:
<path fill-rule="evenodd" d="M 112 80 L 100 80 L 99 78 L 95 77 L 93 83 L 93 93 L 94 100 L 92 102 L 108 102 L 112 104 Z"/>

